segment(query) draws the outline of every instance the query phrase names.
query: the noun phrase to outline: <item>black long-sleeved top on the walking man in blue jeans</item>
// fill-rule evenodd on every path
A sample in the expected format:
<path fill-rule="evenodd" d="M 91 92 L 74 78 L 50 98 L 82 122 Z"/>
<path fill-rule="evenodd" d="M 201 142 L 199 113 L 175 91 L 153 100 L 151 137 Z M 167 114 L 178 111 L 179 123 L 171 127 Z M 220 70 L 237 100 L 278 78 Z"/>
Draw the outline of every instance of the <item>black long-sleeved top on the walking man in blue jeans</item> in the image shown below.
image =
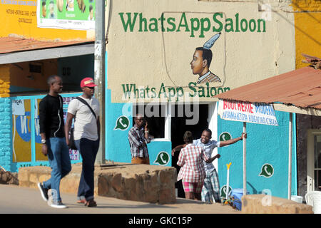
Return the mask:
<path fill-rule="evenodd" d="M 40 133 L 46 133 L 46 139 L 65 137 L 63 130 L 63 99 L 46 95 L 39 103 Z"/>

